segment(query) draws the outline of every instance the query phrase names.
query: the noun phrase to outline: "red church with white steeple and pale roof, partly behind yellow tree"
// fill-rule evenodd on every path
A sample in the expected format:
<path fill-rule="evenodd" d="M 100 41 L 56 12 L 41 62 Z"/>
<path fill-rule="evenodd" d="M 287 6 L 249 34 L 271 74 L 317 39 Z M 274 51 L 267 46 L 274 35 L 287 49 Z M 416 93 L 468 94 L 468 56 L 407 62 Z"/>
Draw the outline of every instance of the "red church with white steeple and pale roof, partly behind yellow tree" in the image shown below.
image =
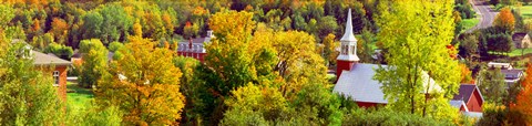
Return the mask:
<path fill-rule="evenodd" d="M 358 106 L 372 107 L 377 105 L 386 105 L 388 101 L 380 88 L 382 86 L 378 81 L 372 80 L 376 74 L 375 69 L 378 64 L 358 63 L 357 56 L 357 40 L 352 33 L 351 11 L 349 10 L 347 17 L 346 32 L 340 39 L 340 54 L 337 57 L 337 83 L 334 87 L 335 93 L 339 93 L 351 97 Z M 381 65 L 387 67 L 387 65 Z M 428 92 L 439 92 L 441 87 L 429 77 L 426 72 L 422 72 L 421 78 L 423 82 L 429 82 L 424 85 L 431 85 Z M 423 91 L 424 92 L 424 91 Z"/>

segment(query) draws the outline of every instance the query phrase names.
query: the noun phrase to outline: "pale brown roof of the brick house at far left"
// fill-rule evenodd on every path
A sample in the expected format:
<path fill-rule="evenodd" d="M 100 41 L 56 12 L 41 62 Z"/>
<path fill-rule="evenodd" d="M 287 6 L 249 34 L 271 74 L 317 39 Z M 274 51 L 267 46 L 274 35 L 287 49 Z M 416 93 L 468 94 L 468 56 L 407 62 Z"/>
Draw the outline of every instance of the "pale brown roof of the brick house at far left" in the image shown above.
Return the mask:
<path fill-rule="evenodd" d="M 70 65 L 70 61 L 59 59 L 54 55 L 44 54 L 38 51 L 32 51 L 34 54 L 34 65 Z"/>

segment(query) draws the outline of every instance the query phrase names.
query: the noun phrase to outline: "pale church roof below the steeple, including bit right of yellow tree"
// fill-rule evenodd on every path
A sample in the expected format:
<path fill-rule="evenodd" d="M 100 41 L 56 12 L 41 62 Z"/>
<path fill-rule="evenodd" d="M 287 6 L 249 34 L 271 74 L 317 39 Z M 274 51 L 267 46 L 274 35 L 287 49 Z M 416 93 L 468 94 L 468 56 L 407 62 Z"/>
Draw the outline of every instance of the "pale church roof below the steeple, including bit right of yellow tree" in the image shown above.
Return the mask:
<path fill-rule="evenodd" d="M 388 67 L 387 65 L 381 66 Z M 380 88 L 382 84 L 374 80 L 375 69 L 378 67 L 377 64 L 355 64 L 351 71 L 342 71 L 332 92 L 350 96 L 356 102 L 387 104 L 388 101 Z M 423 72 L 422 76 L 426 80 L 423 82 L 427 82 L 428 74 Z M 430 84 L 434 85 L 436 82 L 430 80 Z M 431 86 L 429 91 L 441 91 L 441 87 Z"/>

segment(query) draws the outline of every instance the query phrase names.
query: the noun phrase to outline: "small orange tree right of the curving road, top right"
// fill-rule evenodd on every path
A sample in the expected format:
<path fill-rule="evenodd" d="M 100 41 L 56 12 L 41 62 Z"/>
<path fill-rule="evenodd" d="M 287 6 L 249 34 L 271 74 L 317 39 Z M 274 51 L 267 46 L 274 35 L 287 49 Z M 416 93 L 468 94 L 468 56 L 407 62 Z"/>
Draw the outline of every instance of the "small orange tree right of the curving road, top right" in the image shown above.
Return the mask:
<path fill-rule="evenodd" d="M 499 14 L 497 14 L 495 20 L 493 20 L 493 25 L 504 28 L 505 30 L 513 32 L 515 29 L 515 18 L 513 17 L 510 8 L 501 9 Z"/>

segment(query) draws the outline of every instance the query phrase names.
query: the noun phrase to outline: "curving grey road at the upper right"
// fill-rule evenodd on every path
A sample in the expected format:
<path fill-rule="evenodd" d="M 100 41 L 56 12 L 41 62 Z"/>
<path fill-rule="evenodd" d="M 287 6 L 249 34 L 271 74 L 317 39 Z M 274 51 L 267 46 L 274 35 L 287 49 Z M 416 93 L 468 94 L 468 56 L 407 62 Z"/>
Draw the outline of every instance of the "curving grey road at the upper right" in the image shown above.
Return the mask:
<path fill-rule="evenodd" d="M 469 1 L 472 6 L 474 11 L 477 12 L 477 15 L 480 15 L 480 22 L 469 29 L 467 32 L 471 32 L 477 29 L 484 29 L 489 28 L 492 25 L 493 20 L 495 19 L 495 15 L 499 13 L 493 8 L 491 8 L 490 3 L 484 0 L 470 0 Z"/>

